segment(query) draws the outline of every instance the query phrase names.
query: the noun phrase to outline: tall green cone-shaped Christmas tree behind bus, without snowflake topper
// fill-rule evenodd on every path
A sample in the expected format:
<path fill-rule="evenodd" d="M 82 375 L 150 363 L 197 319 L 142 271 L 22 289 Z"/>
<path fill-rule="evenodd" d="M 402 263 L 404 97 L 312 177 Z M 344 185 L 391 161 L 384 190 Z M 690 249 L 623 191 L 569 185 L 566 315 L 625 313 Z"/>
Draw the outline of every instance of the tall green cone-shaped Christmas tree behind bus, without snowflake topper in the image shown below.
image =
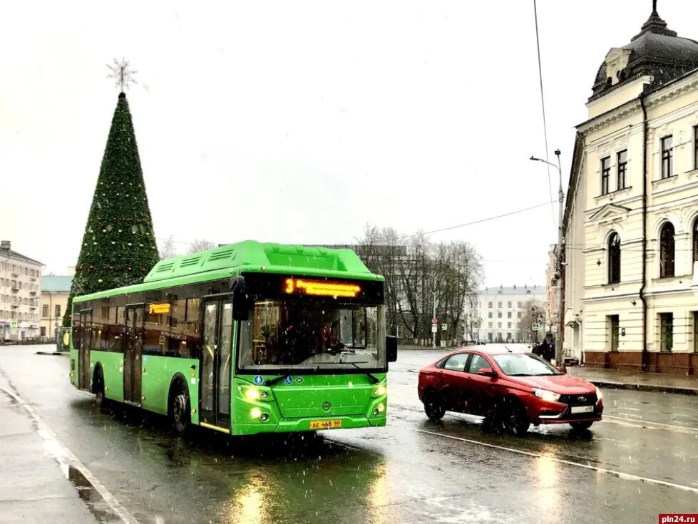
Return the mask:
<path fill-rule="evenodd" d="M 68 298 L 143 282 L 158 262 L 128 101 L 119 94 Z"/>

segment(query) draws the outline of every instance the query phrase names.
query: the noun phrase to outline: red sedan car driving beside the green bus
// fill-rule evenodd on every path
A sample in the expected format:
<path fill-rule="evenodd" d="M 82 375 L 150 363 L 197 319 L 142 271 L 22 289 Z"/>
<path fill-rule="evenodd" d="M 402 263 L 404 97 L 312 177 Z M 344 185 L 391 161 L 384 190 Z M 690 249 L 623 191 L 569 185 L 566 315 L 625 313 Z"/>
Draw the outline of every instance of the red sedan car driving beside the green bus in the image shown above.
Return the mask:
<path fill-rule="evenodd" d="M 601 420 L 601 391 L 530 353 L 459 349 L 419 371 L 426 416 L 470 413 L 523 435 L 531 423 L 587 429 Z"/>

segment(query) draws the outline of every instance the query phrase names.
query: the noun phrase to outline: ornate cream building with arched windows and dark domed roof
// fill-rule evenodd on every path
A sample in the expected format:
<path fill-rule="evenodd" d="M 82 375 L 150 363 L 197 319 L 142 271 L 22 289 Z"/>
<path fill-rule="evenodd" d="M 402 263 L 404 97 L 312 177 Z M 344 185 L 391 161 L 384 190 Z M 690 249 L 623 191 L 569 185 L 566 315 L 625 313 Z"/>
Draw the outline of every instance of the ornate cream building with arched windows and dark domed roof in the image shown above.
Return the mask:
<path fill-rule="evenodd" d="M 565 352 L 587 366 L 692 374 L 698 42 L 653 11 L 610 49 L 592 90 L 563 222 Z"/>

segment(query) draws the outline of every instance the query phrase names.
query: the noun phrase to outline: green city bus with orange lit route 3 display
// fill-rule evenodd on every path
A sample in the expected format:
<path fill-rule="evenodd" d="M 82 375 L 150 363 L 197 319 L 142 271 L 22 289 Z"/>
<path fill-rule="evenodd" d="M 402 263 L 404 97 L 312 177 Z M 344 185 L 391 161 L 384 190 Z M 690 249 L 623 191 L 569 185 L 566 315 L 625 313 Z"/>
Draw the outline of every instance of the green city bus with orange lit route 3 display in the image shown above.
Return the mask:
<path fill-rule="evenodd" d="M 385 426 L 384 277 L 351 250 L 251 240 L 75 297 L 71 383 L 180 433 Z"/>

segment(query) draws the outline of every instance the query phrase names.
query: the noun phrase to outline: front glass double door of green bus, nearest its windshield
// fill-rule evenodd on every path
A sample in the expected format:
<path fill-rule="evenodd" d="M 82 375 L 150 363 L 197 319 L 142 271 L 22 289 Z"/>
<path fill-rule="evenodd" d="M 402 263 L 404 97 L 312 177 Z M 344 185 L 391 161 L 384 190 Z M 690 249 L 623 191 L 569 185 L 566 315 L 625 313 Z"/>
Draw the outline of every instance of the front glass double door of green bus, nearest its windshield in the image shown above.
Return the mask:
<path fill-rule="evenodd" d="M 232 365 L 232 296 L 202 301 L 199 412 L 204 425 L 230 429 Z"/>

